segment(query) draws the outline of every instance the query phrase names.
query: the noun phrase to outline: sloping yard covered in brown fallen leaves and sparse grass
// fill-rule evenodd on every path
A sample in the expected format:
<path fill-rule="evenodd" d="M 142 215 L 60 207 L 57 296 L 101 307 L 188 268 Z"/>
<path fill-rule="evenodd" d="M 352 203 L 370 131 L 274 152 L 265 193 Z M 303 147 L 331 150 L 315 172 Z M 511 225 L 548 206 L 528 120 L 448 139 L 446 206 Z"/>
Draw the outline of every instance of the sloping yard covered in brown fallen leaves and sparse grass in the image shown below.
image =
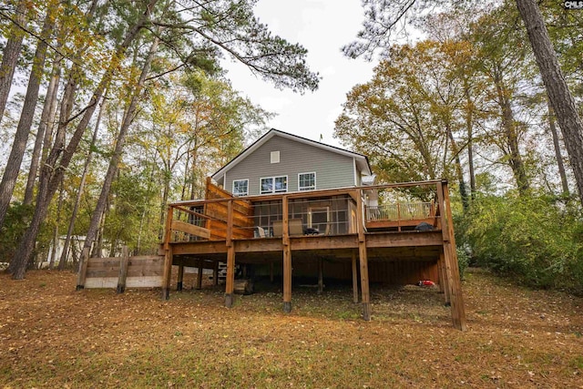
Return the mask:
<path fill-rule="evenodd" d="M 212 286 L 162 302 L 75 283 L 0 275 L 0 386 L 583 388 L 583 299 L 487 271 L 465 275 L 465 333 L 443 294 L 416 286 L 374 286 L 363 322 L 344 285 L 294 284 L 286 314 L 279 285 L 227 309 Z"/>

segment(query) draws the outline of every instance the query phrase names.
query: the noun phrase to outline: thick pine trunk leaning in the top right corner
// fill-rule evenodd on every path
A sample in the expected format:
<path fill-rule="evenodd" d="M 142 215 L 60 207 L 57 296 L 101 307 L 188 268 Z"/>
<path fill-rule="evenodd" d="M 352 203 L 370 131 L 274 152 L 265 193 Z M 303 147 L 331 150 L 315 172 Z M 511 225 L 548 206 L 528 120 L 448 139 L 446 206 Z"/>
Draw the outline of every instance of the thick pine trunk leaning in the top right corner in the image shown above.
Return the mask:
<path fill-rule="evenodd" d="M 516 0 L 518 11 L 527 27 L 528 39 L 535 53 L 550 103 L 557 113 L 571 168 L 577 182 L 579 200 L 583 204 L 583 122 L 578 116 L 575 100 L 558 65 L 547 27 L 533 0 Z M 577 11 L 575 11 L 577 12 Z"/>

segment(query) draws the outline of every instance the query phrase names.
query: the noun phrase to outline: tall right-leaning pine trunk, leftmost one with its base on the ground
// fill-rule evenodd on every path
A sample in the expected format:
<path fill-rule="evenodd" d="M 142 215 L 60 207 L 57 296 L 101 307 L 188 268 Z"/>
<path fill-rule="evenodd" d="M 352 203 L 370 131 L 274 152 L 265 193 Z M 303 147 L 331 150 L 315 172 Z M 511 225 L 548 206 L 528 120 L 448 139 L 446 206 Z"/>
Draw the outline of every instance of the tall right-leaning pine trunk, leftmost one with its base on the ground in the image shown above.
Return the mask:
<path fill-rule="evenodd" d="M 123 43 L 118 46 L 118 49 L 113 54 L 110 59 L 109 66 L 104 73 L 101 81 L 96 87 L 96 90 L 91 97 L 89 105 L 77 124 L 77 128 L 73 133 L 71 139 L 66 148 L 53 148 L 51 153 L 47 158 L 46 167 L 41 171 L 41 177 L 39 179 L 38 185 L 38 195 L 36 196 L 36 209 L 33 219 L 31 220 L 30 226 L 26 229 L 18 248 L 15 252 L 15 258 L 13 261 L 15 264 L 15 271 L 13 273 L 13 278 L 15 280 L 22 280 L 25 278 L 26 273 L 26 262 L 31 257 L 32 252 L 35 247 L 36 236 L 40 230 L 40 225 L 46 218 L 46 212 L 48 210 L 48 205 L 56 192 L 58 185 L 58 180 L 65 173 L 65 169 L 68 167 L 73 155 L 77 151 L 77 147 L 83 134 L 87 128 L 89 120 L 93 117 L 93 113 L 97 108 L 97 101 L 101 99 L 105 89 L 109 86 L 111 79 L 115 75 L 118 69 L 118 61 L 123 58 L 128 50 L 129 45 L 138 36 L 139 31 L 148 21 L 150 10 L 156 5 L 158 0 L 150 0 L 148 5 L 146 5 L 146 10 L 144 14 L 139 18 L 136 25 L 132 26 L 123 40 Z M 58 165 L 56 162 L 59 162 Z"/>

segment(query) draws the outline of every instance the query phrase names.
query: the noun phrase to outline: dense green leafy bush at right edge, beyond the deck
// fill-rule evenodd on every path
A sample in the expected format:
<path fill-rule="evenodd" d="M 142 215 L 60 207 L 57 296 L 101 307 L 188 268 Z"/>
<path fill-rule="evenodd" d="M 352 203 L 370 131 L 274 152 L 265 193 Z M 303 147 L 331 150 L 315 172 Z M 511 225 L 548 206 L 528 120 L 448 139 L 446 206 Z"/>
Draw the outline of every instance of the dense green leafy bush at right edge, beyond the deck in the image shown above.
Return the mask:
<path fill-rule="evenodd" d="M 583 292 L 578 212 L 543 196 L 489 196 L 476 200 L 460 227 L 478 264 L 530 286 Z"/>

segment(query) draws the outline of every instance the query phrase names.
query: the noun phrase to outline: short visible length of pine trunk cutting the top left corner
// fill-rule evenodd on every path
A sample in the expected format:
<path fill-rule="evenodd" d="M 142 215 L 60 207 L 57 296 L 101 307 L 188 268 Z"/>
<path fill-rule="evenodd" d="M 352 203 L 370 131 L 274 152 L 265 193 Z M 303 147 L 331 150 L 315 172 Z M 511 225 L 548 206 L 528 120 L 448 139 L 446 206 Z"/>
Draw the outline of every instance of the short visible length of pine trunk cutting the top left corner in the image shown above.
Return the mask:
<path fill-rule="evenodd" d="M 26 1 L 20 0 L 15 9 L 15 24 L 25 26 L 26 24 Z M 22 41 L 25 37 L 24 31 L 19 26 L 10 26 L 10 35 L 2 52 L 2 65 L 0 65 L 0 123 L 4 117 L 4 110 L 10 95 L 12 80 L 15 77 L 16 64 Z M 2 222 L 0 222 L 0 227 Z"/>

